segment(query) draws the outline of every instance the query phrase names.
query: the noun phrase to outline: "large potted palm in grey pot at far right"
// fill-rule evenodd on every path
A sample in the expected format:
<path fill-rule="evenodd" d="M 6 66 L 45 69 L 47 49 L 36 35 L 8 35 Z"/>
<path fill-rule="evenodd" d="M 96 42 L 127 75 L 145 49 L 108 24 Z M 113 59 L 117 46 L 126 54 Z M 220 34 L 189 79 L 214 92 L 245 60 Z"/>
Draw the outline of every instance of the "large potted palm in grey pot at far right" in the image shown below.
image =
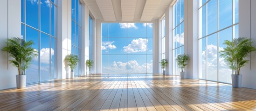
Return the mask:
<path fill-rule="evenodd" d="M 240 69 L 249 61 L 247 58 L 250 52 L 256 51 L 252 46 L 249 38 L 239 37 L 234 38 L 232 41 L 224 41 L 226 48 L 220 51 L 220 56 L 224 57 L 228 68 L 233 70 L 232 86 L 236 88 L 242 87 L 242 75 Z"/>

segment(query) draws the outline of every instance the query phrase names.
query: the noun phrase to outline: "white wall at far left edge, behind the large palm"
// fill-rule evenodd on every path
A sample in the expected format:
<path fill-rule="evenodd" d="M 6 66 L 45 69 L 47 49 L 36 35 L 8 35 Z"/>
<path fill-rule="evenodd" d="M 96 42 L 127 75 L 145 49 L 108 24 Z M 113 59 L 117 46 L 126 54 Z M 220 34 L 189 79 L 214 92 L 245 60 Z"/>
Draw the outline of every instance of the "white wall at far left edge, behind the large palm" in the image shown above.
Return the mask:
<path fill-rule="evenodd" d="M 2 0 L 0 3 L 0 49 L 7 38 L 21 37 L 21 0 Z M 6 52 L 0 52 L 0 90 L 16 87 L 18 70 L 8 62 Z"/>

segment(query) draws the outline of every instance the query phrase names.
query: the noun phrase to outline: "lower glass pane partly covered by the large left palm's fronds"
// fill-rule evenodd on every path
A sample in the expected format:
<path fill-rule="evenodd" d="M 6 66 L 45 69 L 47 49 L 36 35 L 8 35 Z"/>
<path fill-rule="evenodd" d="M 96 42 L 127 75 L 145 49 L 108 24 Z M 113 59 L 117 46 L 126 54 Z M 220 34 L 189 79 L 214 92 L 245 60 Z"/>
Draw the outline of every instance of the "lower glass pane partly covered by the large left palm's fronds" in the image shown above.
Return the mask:
<path fill-rule="evenodd" d="M 38 38 L 39 38 L 39 32 L 35 29 L 32 29 L 30 27 L 26 27 L 26 40 L 30 41 L 32 40 L 35 44 L 32 45 L 33 48 L 38 50 Z M 39 58 L 35 58 L 34 61 L 31 63 L 30 67 L 26 70 L 27 74 L 27 83 L 33 83 L 33 82 L 39 82 Z"/>

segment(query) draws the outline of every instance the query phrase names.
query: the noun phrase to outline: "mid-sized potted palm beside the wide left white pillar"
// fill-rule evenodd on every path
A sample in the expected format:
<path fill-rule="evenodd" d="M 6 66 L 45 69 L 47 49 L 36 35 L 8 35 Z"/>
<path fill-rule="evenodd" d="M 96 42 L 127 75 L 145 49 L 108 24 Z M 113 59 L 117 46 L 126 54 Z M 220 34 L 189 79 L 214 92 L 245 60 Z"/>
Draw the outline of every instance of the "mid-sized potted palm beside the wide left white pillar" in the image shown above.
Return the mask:
<path fill-rule="evenodd" d="M 74 69 L 76 68 L 79 58 L 77 55 L 69 54 L 65 57 L 65 61 L 67 62 L 68 66 L 71 69 L 71 78 L 74 78 L 75 72 Z"/>

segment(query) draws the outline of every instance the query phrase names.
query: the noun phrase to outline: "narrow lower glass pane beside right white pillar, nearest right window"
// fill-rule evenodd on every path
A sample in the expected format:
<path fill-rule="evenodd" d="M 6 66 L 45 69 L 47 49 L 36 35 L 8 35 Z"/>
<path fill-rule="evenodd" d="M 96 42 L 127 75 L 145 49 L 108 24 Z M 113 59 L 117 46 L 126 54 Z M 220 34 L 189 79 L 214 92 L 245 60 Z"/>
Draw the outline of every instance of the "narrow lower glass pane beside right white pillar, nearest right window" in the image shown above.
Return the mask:
<path fill-rule="evenodd" d="M 199 79 L 206 79 L 206 38 L 199 40 Z"/>

